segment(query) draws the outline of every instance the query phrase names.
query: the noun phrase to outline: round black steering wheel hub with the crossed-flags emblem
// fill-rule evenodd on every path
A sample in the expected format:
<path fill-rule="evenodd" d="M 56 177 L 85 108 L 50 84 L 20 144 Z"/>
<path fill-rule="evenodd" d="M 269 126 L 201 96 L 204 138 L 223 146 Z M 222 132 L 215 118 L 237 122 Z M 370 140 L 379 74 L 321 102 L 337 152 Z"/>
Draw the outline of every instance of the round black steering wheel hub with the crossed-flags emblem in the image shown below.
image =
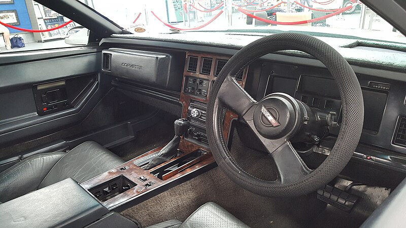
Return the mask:
<path fill-rule="evenodd" d="M 254 111 L 254 125 L 268 139 L 292 135 L 298 124 L 297 101 L 287 94 L 270 94 L 263 98 Z"/>

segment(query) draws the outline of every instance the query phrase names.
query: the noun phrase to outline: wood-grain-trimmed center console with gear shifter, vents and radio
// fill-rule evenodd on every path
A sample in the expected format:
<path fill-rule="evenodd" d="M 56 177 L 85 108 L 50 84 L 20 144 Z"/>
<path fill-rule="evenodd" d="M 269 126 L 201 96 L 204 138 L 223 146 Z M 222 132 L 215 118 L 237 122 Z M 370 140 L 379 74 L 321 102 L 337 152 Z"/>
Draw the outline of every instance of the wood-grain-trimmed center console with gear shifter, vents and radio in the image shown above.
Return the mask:
<path fill-rule="evenodd" d="M 124 204 L 126 204 L 123 206 L 125 208 L 142 202 L 215 167 L 206 131 L 207 103 L 210 89 L 229 58 L 211 54 L 186 53 L 179 102 L 183 107 L 180 118 L 186 119 L 190 125 L 181 136 L 177 153 L 175 151 L 173 158 L 169 157 L 165 162 L 149 168 L 149 162 L 160 155 L 164 146 L 161 145 L 82 183 L 81 186 L 101 205 L 112 210 Z M 236 81 L 243 88 L 247 71 L 248 68 L 236 77 Z M 228 140 L 231 122 L 237 117 L 229 110 L 225 113 L 223 135 L 226 140 Z M 173 141 L 170 143 L 173 145 Z"/>

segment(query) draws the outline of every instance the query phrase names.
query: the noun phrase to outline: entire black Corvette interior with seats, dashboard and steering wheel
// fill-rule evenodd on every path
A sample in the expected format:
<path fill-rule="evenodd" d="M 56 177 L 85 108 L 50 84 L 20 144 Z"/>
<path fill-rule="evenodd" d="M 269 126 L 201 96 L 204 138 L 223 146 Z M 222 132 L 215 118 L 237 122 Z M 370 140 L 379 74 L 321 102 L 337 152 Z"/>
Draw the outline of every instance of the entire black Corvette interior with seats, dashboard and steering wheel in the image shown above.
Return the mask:
<path fill-rule="evenodd" d="M 406 44 L 138 36 L 37 2 L 89 42 L 0 54 L 0 227 L 403 226 Z M 404 3 L 362 3 L 404 34 Z"/>

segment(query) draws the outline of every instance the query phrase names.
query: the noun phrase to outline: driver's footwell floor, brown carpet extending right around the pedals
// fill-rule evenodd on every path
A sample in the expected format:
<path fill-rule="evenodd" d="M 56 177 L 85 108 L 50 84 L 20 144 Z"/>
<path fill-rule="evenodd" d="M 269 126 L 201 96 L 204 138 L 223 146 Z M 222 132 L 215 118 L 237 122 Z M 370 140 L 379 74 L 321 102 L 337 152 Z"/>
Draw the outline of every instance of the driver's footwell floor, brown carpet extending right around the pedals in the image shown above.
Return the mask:
<path fill-rule="evenodd" d="M 256 177 L 276 178 L 274 162 L 258 150 L 245 147 L 236 131 L 231 154 Z M 344 189 L 351 181 L 337 178 L 335 186 Z M 358 202 L 351 213 L 316 199 L 316 193 L 298 198 L 272 199 L 252 194 L 232 182 L 220 168 L 212 169 L 169 189 L 121 214 L 146 227 L 165 220 L 185 220 L 194 210 L 212 201 L 251 227 L 359 227 L 388 197 L 390 189 L 354 186 L 351 193 Z"/>

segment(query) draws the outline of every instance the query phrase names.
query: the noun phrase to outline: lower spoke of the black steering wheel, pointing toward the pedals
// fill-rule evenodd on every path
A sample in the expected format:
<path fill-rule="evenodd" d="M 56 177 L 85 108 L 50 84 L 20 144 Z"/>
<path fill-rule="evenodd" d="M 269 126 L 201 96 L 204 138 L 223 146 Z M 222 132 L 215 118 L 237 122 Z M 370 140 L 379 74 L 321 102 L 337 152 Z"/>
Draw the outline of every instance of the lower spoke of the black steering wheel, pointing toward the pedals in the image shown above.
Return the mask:
<path fill-rule="evenodd" d="M 278 181 L 282 184 L 296 181 L 312 171 L 297 154 L 290 141 L 285 142 L 271 156 L 277 167 Z"/>

